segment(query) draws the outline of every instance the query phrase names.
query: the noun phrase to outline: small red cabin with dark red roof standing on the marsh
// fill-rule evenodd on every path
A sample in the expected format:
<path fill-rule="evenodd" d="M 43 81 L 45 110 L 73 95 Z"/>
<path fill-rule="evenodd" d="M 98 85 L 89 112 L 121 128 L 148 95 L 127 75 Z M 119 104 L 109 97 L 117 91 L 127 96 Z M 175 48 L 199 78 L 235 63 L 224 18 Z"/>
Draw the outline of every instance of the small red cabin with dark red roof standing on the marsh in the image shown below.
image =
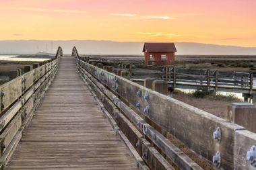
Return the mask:
<path fill-rule="evenodd" d="M 145 54 L 145 65 L 174 65 L 175 52 L 174 43 L 148 43 L 143 47 Z"/>

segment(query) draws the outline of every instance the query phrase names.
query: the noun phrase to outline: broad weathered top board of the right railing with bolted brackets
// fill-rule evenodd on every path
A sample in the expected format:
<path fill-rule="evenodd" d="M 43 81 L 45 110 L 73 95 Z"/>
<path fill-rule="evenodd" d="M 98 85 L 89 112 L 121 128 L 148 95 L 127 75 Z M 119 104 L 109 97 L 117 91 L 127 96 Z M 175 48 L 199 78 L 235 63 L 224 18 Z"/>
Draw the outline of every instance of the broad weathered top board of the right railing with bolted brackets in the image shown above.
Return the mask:
<path fill-rule="evenodd" d="M 246 155 L 251 145 L 256 143 L 255 133 L 177 99 L 172 99 L 90 65 L 77 56 L 75 56 L 75 60 L 77 60 L 80 71 L 83 71 L 84 74 L 90 73 L 86 75 L 88 79 L 96 84 L 96 81 L 98 81 L 103 85 L 100 89 L 105 91 L 104 87 L 107 87 L 117 97 L 121 98 L 120 101 L 117 97 L 110 97 L 117 107 L 122 107 L 121 102 L 123 101 L 129 103 L 129 107 L 137 108 L 135 109 L 136 112 L 158 124 L 201 157 L 208 161 L 214 159 L 214 163 L 223 169 L 236 169 L 237 167 L 247 169 L 251 166 Z M 132 121 L 137 124 L 138 119 L 133 117 Z M 152 139 L 154 144 L 163 147 L 160 138 L 154 135 L 148 126 L 139 122 L 137 128 Z M 213 134 L 218 129 L 221 133 L 220 136 L 215 138 Z M 241 142 L 242 139 L 244 142 Z M 221 164 L 216 159 L 221 159 Z"/>

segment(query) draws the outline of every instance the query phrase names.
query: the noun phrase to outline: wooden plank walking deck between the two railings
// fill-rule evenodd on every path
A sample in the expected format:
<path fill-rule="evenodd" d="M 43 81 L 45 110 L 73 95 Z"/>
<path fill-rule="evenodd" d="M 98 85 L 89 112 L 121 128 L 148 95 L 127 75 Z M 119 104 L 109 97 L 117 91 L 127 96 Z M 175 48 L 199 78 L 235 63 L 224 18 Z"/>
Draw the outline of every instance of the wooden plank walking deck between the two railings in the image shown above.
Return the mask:
<path fill-rule="evenodd" d="M 63 56 L 6 169 L 137 169 L 94 97 Z"/>

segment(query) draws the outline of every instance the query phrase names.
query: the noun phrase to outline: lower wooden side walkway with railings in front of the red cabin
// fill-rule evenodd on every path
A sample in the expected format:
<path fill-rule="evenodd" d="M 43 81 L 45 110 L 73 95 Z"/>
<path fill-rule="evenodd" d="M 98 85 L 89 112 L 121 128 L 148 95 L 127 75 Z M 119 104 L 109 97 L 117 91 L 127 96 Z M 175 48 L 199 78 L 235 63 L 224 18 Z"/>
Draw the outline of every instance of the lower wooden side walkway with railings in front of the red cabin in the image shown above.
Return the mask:
<path fill-rule="evenodd" d="M 253 73 L 218 71 L 210 69 L 187 69 L 179 66 L 141 65 L 141 60 L 102 59 L 83 56 L 86 62 L 102 63 L 113 67 L 113 71 L 129 71 L 131 79 L 137 83 L 151 77 L 168 81 L 173 88 L 199 89 L 205 91 L 223 91 L 243 93 L 245 98 L 253 98 L 256 87 L 253 85 Z"/>

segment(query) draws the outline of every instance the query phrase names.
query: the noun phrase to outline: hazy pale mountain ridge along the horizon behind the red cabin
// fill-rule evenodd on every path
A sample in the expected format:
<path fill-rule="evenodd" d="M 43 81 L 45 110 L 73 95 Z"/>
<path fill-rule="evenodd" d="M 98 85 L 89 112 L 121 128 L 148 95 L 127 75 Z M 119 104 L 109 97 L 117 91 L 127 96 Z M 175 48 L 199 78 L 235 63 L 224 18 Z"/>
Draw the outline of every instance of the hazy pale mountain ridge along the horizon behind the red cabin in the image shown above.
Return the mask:
<path fill-rule="evenodd" d="M 177 54 L 181 55 L 255 55 L 256 47 L 220 46 L 193 42 L 176 42 Z M 96 40 L 17 40 L 0 41 L 0 54 L 36 54 L 39 51 L 55 53 L 57 47 L 63 48 L 64 54 L 70 54 L 73 46 L 79 54 L 127 54 L 143 55 L 143 42 L 113 42 Z"/>

